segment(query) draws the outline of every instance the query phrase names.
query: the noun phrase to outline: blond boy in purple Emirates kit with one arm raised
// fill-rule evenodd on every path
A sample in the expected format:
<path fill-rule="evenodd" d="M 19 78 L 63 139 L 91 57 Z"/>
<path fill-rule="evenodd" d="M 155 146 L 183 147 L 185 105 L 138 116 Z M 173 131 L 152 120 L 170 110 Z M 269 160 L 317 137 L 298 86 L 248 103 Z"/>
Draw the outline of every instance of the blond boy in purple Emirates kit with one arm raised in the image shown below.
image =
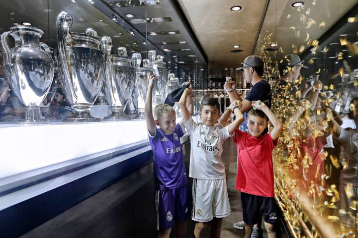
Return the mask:
<path fill-rule="evenodd" d="M 158 237 L 169 238 L 176 223 L 176 237 L 184 238 L 185 220 L 190 216 L 191 210 L 180 144 L 180 137 L 184 132 L 180 124 L 176 123 L 174 108 L 168 104 L 157 105 L 153 115 L 152 91 L 153 80 L 156 79 L 152 75 L 149 81 L 145 115 L 154 160 Z M 188 98 L 188 107 L 192 112 L 192 97 Z"/>

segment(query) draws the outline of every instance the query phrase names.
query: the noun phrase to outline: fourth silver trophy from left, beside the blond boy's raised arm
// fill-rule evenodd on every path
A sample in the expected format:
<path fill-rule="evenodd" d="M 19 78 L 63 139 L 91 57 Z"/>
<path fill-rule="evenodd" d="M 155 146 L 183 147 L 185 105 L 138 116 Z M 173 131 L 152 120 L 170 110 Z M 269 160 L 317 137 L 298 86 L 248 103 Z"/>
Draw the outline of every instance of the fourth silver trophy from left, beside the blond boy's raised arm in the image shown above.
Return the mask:
<path fill-rule="evenodd" d="M 138 118 L 145 119 L 145 98 L 147 96 L 147 90 L 149 85 L 150 76 L 154 74 L 154 69 L 149 67 L 150 61 L 143 60 L 143 67 L 137 68 L 136 71 L 136 89 L 138 95 Z M 152 93 L 152 103 L 154 102 L 155 93 L 157 91 L 157 82 L 154 82 L 153 93 Z"/>

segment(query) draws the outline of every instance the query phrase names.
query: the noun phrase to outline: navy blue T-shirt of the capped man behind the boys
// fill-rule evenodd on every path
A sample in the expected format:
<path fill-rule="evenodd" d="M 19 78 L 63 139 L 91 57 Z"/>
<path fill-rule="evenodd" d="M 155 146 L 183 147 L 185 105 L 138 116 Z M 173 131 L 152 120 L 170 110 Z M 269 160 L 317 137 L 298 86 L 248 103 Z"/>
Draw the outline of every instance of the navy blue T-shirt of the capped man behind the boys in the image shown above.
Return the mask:
<path fill-rule="evenodd" d="M 269 82 L 266 80 L 261 80 L 257 82 L 250 90 L 249 94 L 246 96 L 246 100 L 249 101 L 257 101 L 261 100 L 261 102 L 265 103 L 269 109 L 271 109 L 271 86 L 269 85 Z M 249 111 L 249 110 L 248 110 Z M 247 126 L 246 120 L 247 120 L 247 112 L 244 113 L 245 120 L 240 125 L 240 130 L 248 132 L 249 128 Z M 264 133 L 267 133 L 268 130 L 265 129 Z"/>

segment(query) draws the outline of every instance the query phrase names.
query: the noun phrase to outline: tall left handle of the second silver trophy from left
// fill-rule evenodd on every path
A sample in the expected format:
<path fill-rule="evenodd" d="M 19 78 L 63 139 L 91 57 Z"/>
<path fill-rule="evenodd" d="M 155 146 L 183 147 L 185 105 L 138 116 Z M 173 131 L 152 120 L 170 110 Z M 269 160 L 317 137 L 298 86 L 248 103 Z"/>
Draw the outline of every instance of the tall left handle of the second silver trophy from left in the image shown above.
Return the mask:
<path fill-rule="evenodd" d="M 62 11 L 56 20 L 56 28 L 57 28 L 57 47 L 58 47 L 58 66 L 61 68 L 62 76 L 64 77 L 63 80 L 67 81 L 67 86 L 71 91 L 71 95 L 77 98 L 73 85 L 71 83 L 71 75 L 70 70 L 68 67 L 67 59 L 66 59 L 66 50 L 65 46 L 67 42 L 72 42 L 71 36 L 71 26 L 73 23 L 72 16 L 67 13 L 66 11 Z M 62 84 L 65 87 L 65 84 Z M 66 90 L 65 90 L 66 92 Z M 66 95 L 67 98 L 71 98 L 71 95 Z"/>

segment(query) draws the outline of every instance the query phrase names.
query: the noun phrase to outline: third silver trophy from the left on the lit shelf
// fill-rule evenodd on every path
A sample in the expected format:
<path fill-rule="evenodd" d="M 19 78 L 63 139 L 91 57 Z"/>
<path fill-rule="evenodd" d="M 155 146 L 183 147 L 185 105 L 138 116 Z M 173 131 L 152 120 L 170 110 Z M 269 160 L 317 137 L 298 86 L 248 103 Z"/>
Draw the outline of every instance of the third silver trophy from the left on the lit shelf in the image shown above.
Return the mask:
<path fill-rule="evenodd" d="M 118 55 L 110 55 L 110 49 L 107 53 L 104 89 L 107 101 L 111 104 L 112 114 L 103 120 L 133 120 L 132 117 L 125 115 L 124 110 L 133 92 L 136 69 L 131 66 L 132 60 L 124 47 L 119 48 Z"/>

